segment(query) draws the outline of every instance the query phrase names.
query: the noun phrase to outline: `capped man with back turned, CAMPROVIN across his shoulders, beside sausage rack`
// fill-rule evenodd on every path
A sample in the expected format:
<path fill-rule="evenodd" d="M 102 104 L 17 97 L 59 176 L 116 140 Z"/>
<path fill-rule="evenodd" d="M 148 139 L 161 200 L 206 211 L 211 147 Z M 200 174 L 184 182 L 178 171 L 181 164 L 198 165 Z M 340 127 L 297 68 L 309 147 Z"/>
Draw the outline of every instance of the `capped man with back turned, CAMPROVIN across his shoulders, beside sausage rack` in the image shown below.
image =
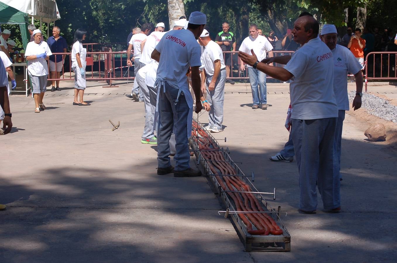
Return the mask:
<path fill-rule="evenodd" d="M 193 12 L 187 30 L 166 33 L 152 52 L 159 62 L 156 87 L 157 107 L 154 125 L 157 126 L 158 175 L 173 173 L 174 177 L 200 176 L 200 171 L 190 168 L 189 141 L 192 127 L 193 98 L 189 92 L 187 73 L 192 72 L 192 84 L 196 97 L 196 113 L 202 109 L 200 100 L 200 56 L 197 38 L 207 23 L 206 15 Z M 169 141 L 175 128 L 175 169 L 170 163 Z"/>

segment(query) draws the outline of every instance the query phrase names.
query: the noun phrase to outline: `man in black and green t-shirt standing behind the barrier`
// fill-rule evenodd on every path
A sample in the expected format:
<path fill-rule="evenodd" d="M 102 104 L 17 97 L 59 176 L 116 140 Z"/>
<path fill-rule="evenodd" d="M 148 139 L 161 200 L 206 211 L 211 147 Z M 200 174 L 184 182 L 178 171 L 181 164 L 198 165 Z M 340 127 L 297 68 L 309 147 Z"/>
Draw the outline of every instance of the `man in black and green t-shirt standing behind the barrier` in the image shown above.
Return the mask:
<path fill-rule="evenodd" d="M 234 34 L 229 31 L 229 23 L 224 22 L 222 24 L 222 31 L 216 35 L 215 42 L 218 44 L 222 51 L 232 51 L 236 50 L 236 39 Z M 225 65 L 226 65 L 226 77 L 230 77 L 230 66 L 232 65 L 231 53 L 224 54 Z M 232 80 L 226 80 L 226 83 L 234 84 Z"/>

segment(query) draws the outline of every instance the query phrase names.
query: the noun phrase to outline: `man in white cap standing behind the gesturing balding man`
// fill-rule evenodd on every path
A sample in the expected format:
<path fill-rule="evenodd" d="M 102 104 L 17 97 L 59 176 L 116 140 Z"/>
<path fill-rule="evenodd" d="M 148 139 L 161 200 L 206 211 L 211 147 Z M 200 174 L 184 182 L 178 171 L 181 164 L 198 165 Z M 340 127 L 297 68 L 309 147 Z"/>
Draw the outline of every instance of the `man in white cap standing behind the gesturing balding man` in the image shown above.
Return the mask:
<path fill-rule="evenodd" d="M 361 107 L 362 97 L 362 74 L 361 65 L 356 60 L 353 53 L 344 46 L 337 45 L 337 30 L 335 25 L 326 24 L 321 31 L 321 40 L 330 48 L 333 57 L 333 92 L 338 105 L 338 121 L 335 128 L 335 144 L 338 157 L 339 167 L 341 165 L 341 139 L 342 127 L 345 119 L 345 111 L 349 110 L 349 98 L 347 96 L 347 73 L 351 72 L 357 77 L 356 96 L 353 100 L 354 110 Z M 291 134 L 290 134 L 291 135 Z M 289 136 L 288 142 L 284 149 L 278 154 L 270 157 L 272 161 L 289 161 L 294 156 L 293 141 Z M 342 177 L 340 178 L 342 180 Z"/>

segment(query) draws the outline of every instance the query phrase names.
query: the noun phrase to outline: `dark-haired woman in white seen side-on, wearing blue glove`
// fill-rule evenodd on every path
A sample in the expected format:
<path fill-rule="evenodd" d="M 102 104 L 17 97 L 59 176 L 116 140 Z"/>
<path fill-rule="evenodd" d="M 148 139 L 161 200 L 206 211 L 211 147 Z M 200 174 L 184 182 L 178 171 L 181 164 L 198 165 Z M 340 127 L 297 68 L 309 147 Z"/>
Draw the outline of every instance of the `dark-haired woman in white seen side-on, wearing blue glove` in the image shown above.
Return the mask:
<path fill-rule="evenodd" d="M 87 56 L 87 48 L 83 48 L 83 44 L 81 44 L 81 42 L 85 39 L 86 34 L 87 31 L 85 31 L 85 29 L 77 29 L 73 40 L 74 44 L 72 46 L 72 69 L 75 73 L 75 96 L 73 99 L 73 105 L 78 106 L 91 105 L 90 103 L 83 101 L 84 90 L 86 87 L 85 66 L 87 65 L 87 62 L 85 61 L 85 58 Z M 80 97 L 80 100 L 77 100 L 78 97 Z"/>

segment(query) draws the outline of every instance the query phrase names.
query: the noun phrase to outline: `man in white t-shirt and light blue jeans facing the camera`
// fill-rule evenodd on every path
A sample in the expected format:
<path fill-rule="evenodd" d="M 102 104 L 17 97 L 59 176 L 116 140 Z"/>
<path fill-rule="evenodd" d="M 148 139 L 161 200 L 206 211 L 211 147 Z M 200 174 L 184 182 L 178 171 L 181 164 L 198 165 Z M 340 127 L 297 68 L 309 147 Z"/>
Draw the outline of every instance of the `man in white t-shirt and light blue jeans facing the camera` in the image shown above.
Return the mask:
<path fill-rule="evenodd" d="M 251 55 L 251 50 L 254 50 L 254 53 L 258 56 L 259 60 L 266 58 L 266 52 L 269 54 L 270 58 L 273 57 L 273 46 L 266 37 L 258 35 L 258 26 L 251 24 L 249 27 L 249 33 L 250 36 L 243 40 L 239 51 Z M 239 60 L 239 63 L 240 70 L 245 71 L 244 63 L 241 63 L 241 60 Z M 252 109 L 258 109 L 259 107 L 261 109 L 267 109 L 266 74 L 253 68 L 251 65 L 247 65 L 247 68 L 252 90 Z"/>

